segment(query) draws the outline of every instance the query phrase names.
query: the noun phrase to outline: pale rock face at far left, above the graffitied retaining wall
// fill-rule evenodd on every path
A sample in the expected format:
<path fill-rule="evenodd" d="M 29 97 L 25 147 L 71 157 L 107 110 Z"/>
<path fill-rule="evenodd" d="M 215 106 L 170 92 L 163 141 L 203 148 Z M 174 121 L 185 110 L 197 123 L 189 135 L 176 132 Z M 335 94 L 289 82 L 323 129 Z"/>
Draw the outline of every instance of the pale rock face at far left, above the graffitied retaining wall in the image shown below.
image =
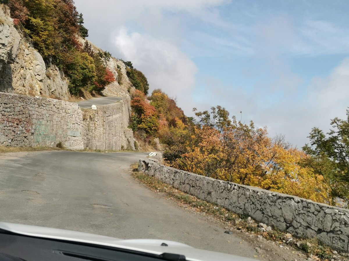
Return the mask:
<path fill-rule="evenodd" d="M 68 80 L 19 33 L 0 4 L 0 92 L 68 99 Z"/>

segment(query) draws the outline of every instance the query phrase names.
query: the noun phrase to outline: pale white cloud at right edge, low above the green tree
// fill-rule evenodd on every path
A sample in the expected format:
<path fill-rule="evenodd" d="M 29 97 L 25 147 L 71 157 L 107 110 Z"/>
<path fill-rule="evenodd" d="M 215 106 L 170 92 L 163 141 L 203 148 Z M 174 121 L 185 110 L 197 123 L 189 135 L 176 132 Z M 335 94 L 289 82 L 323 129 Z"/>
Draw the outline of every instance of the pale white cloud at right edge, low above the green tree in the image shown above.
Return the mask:
<path fill-rule="evenodd" d="M 327 133 L 331 119 L 346 118 L 348 82 L 349 58 L 346 58 L 327 77 L 314 77 L 302 100 L 285 96 L 277 106 L 262 109 L 257 119 L 268 126 L 270 135 L 285 134 L 288 141 L 300 148 L 309 143 L 307 136 L 313 127 Z"/>

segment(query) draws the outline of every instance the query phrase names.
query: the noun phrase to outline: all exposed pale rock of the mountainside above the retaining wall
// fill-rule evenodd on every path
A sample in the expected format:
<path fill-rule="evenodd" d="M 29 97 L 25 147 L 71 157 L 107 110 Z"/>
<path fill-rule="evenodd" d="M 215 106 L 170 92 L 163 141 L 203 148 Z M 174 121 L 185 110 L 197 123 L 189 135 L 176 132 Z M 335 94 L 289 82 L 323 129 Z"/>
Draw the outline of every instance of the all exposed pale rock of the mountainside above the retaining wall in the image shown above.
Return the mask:
<path fill-rule="evenodd" d="M 83 44 L 85 40 L 80 38 L 79 41 Z M 91 46 L 95 52 L 101 50 Z M 102 94 L 129 97 L 128 90 L 134 87 L 126 76 L 125 64 L 111 57 L 105 65 L 116 81 L 107 85 Z M 65 73 L 50 60 L 44 61 L 24 34 L 16 29 L 8 7 L 0 4 L 0 92 L 68 100 L 68 84 Z"/>

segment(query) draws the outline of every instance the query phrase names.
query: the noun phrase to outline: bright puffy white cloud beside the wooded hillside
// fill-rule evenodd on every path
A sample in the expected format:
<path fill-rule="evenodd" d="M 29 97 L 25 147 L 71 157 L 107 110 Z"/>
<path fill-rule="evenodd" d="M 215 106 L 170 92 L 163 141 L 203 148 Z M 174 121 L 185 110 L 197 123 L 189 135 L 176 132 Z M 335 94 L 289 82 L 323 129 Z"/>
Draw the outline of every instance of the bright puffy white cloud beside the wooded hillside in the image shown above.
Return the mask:
<path fill-rule="evenodd" d="M 147 76 L 151 89 L 161 88 L 171 97 L 180 95 L 183 109 L 192 104 L 197 68 L 177 46 L 147 34 L 128 34 L 125 28 L 114 36 L 114 44 L 121 57 Z"/>

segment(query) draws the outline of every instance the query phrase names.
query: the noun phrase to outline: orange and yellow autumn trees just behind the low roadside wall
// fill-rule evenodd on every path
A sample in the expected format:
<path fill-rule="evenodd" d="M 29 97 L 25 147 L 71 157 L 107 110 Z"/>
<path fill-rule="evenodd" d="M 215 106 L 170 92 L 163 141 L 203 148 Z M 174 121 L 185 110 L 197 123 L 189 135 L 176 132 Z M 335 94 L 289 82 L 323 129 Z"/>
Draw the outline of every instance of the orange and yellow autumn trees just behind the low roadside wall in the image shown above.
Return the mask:
<path fill-rule="evenodd" d="M 172 127 L 164 153 L 168 165 L 331 204 L 331 188 L 324 177 L 300 165 L 309 157 L 304 152 L 270 139 L 267 129 L 255 128 L 252 121 L 247 125 L 235 117 L 230 120 L 222 107 L 196 114 L 200 122 L 194 128 Z"/>

